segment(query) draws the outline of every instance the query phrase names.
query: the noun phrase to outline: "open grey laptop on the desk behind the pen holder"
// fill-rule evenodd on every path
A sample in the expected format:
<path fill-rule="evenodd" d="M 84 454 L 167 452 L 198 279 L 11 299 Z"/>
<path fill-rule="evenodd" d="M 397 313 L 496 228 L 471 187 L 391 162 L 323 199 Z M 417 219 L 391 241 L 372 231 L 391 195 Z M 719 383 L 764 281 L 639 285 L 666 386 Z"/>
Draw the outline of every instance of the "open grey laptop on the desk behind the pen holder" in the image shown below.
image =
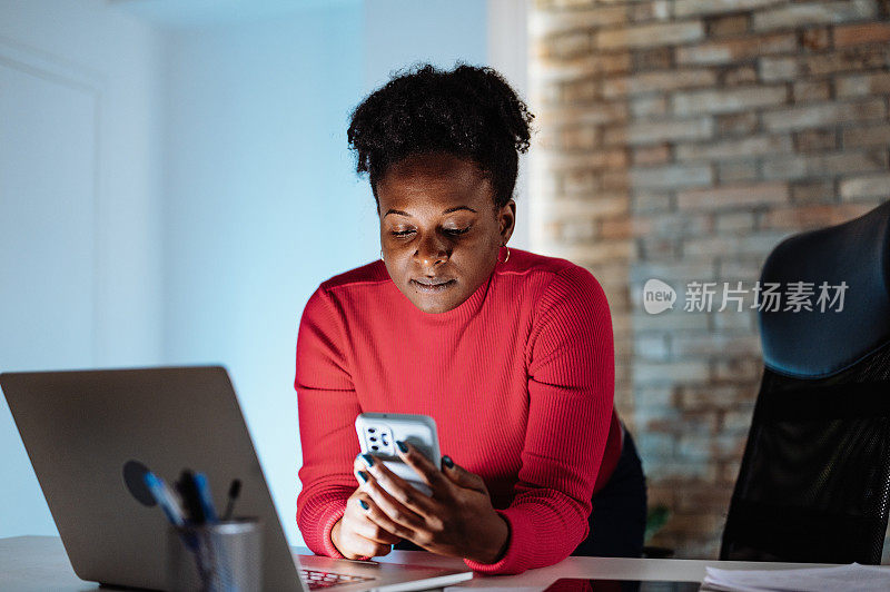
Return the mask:
<path fill-rule="evenodd" d="M 240 480 L 236 515 L 261 521 L 266 590 L 395 592 L 473 576 L 293 554 L 224 367 L 6 373 L 0 388 L 82 580 L 167 588 L 169 524 L 159 507 L 138 500 L 131 474 L 128 484 L 125 467 L 139 464 L 168 482 L 184 468 L 207 474 L 220 509 L 229 483 Z"/>

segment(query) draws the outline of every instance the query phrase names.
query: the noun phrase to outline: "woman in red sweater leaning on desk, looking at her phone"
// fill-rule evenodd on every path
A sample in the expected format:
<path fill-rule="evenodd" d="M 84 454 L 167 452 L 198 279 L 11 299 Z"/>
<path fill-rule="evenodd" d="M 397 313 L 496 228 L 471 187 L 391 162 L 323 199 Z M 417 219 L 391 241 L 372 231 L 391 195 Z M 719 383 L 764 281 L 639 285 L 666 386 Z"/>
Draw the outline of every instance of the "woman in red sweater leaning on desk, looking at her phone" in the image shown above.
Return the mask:
<path fill-rule="evenodd" d="M 565 259 L 506 246 L 532 118 L 495 71 L 469 66 L 399 76 L 353 114 L 383 248 L 323 283 L 300 322 L 297 522 L 316 553 L 414 544 L 483 573 L 639 553 L 644 485 L 613 410 L 603 290 Z M 363 412 L 436 421 L 442 471 L 399 453 L 432 496 L 357 457 Z M 601 514 L 612 524 L 596 532 Z"/>

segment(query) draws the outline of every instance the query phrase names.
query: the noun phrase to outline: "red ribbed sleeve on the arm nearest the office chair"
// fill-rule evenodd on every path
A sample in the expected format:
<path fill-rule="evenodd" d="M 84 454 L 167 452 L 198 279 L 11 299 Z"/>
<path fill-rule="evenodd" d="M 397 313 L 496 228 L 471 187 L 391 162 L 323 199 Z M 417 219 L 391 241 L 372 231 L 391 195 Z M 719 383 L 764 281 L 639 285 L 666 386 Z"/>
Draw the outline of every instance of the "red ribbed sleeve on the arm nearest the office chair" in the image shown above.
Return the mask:
<path fill-rule="evenodd" d="M 572 266 L 537 303 L 526 346 L 528 422 L 516 496 L 498 511 L 510 525 L 505 555 L 466 561 L 482 573 L 521 573 L 568 556 L 587 517 L 609 436 L 614 351 L 609 304 L 596 279 Z"/>

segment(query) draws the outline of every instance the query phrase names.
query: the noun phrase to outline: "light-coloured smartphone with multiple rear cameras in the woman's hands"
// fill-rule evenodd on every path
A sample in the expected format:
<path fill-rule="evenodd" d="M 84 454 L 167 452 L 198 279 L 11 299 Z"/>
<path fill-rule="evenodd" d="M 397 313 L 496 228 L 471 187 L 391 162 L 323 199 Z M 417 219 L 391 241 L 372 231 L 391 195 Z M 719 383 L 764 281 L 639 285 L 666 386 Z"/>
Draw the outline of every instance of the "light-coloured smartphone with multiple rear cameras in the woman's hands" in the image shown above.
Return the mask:
<path fill-rule="evenodd" d="M 426 495 L 429 487 L 421 476 L 402 462 L 396 442 L 406 442 L 417 448 L 436 468 L 442 470 L 436 422 L 428 415 L 404 413 L 362 413 L 355 418 L 355 431 L 363 454 L 370 454 L 383 462 L 389 471 L 407 481 Z"/>

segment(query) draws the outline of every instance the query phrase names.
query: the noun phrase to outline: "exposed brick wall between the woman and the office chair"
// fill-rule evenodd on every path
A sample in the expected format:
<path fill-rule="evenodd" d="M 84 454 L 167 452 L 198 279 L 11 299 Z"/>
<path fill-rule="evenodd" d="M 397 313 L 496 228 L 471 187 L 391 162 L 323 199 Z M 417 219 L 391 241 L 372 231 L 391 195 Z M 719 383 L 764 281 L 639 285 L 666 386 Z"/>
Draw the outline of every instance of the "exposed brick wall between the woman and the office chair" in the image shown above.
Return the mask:
<path fill-rule="evenodd" d="M 536 0 L 533 245 L 600 278 L 654 541 L 712 558 L 762 372 L 755 313 L 646 314 L 642 285 L 753 286 L 802 229 L 890 197 L 890 1 Z M 716 308 L 716 307 L 715 307 Z"/>

